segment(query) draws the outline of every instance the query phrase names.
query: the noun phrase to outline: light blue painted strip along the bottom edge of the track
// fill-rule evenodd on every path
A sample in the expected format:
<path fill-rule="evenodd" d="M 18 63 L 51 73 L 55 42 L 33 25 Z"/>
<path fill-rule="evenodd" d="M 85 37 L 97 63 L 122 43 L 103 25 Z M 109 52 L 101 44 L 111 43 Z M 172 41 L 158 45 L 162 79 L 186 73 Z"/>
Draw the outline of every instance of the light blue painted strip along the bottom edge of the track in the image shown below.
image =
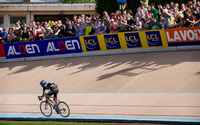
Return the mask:
<path fill-rule="evenodd" d="M 61 116 L 45 117 L 43 115 L 5 115 L 0 114 L 0 119 L 21 119 L 21 120 L 77 120 L 77 121 L 122 121 L 122 122 L 181 122 L 181 123 L 200 123 L 199 119 L 169 119 L 169 118 L 126 118 L 126 117 L 83 117 L 83 116 L 69 116 L 67 118 Z"/>

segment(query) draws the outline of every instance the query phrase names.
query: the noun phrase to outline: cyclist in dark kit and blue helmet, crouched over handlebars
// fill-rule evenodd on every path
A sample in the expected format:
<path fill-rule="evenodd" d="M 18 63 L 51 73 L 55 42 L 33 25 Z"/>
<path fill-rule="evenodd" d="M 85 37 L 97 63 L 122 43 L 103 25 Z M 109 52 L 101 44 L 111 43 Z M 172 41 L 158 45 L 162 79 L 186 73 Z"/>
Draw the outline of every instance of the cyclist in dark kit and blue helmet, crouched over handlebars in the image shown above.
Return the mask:
<path fill-rule="evenodd" d="M 58 85 L 53 83 L 53 82 L 49 82 L 47 83 L 45 80 L 42 80 L 40 82 L 40 85 L 43 87 L 43 93 L 41 96 L 41 99 L 45 96 L 47 100 L 51 101 L 54 104 L 54 108 L 57 106 L 57 95 L 58 95 Z M 47 94 L 45 94 L 45 90 L 50 90 Z M 50 99 L 50 96 L 54 95 L 54 102 Z"/>

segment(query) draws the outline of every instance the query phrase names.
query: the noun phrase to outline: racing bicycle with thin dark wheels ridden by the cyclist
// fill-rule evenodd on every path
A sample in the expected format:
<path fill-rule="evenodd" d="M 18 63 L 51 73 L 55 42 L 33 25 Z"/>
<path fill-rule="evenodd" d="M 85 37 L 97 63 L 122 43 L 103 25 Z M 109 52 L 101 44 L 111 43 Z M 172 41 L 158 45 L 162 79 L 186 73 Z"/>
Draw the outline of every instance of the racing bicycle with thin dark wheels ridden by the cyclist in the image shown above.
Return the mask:
<path fill-rule="evenodd" d="M 38 96 L 38 99 L 42 101 L 42 98 L 40 96 Z M 67 103 L 65 103 L 64 101 L 60 101 L 59 99 L 57 106 L 54 106 L 53 103 L 47 99 L 40 103 L 40 111 L 46 117 L 52 115 L 52 108 L 56 111 L 57 114 L 60 114 L 62 117 L 68 117 L 70 114 L 70 109 Z"/>

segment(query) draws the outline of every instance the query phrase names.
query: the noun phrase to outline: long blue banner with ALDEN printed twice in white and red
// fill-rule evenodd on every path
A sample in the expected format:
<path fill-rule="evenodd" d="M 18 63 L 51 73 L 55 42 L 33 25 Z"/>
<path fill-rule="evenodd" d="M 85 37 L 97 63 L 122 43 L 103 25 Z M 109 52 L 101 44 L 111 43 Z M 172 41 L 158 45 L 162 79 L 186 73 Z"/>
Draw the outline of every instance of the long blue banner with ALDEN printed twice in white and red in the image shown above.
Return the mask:
<path fill-rule="evenodd" d="M 82 53 L 79 37 L 4 44 L 7 59 Z"/>

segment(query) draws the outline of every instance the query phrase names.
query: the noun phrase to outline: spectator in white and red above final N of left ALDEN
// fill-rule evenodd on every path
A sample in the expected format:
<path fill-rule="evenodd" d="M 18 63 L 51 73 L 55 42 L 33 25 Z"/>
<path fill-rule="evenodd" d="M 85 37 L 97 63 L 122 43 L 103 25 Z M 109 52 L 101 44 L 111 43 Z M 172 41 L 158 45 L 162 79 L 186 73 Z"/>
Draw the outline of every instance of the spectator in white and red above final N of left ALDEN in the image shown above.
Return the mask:
<path fill-rule="evenodd" d="M 34 34 L 33 41 L 43 40 L 44 33 L 39 22 L 37 22 L 37 27 L 33 31 L 33 34 Z"/>

